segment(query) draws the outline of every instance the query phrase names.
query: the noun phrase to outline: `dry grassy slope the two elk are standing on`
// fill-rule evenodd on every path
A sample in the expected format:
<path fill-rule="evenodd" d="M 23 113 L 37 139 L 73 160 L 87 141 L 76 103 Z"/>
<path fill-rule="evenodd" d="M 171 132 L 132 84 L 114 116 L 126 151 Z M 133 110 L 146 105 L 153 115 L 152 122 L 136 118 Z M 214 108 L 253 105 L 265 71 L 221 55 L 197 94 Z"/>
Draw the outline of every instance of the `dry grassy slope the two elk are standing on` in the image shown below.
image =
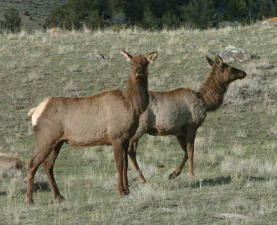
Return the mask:
<path fill-rule="evenodd" d="M 158 59 L 149 65 L 149 89 L 165 91 L 199 87 L 211 69 L 204 54 L 229 44 L 260 58 L 232 64 L 247 77 L 230 85 L 223 106 L 208 113 L 199 128 L 194 177 L 188 177 L 186 164 L 179 177 L 168 180 L 183 150 L 174 136 L 144 135 L 138 161 L 148 182 L 139 184 L 129 164 L 131 195 L 120 199 L 111 148 L 72 149 L 65 144 L 54 174 L 66 201 L 52 204 L 42 167 L 36 175 L 34 207 L 24 203 L 24 177 L 0 176 L 0 224 L 276 223 L 277 69 L 271 66 L 277 60 L 275 29 L 2 35 L 0 152 L 28 161 L 36 141 L 27 112 L 47 96 L 124 89 L 130 65 L 120 55 L 121 48 L 132 55 L 158 51 Z M 110 59 L 90 61 L 96 53 Z M 157 162 L 167 167 L 157 168 Z M 220 218 L 220 213 L 233 217 Z"/>

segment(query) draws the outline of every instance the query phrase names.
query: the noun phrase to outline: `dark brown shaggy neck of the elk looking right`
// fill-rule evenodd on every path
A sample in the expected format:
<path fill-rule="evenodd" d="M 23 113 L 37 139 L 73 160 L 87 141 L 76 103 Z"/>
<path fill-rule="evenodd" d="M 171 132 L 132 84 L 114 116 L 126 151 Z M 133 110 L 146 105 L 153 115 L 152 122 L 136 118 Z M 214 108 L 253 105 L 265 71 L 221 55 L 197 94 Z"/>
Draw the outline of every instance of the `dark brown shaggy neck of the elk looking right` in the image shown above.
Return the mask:
<path fill-rule="evenodd" d="M 228 83 L 224 80 L 221 69 L 214 65 L 210 75 L 203 81 L 199 89 L 202 101 L 208 111 L 215 111 L 223 102 Z"/>

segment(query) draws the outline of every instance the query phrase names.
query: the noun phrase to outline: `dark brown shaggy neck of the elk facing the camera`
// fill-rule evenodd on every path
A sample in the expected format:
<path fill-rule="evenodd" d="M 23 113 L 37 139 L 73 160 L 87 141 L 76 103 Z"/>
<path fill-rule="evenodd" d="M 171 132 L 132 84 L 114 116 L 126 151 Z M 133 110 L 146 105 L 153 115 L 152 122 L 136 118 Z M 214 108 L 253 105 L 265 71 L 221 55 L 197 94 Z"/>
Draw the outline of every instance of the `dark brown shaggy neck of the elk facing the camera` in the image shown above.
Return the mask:
<path fill-rule="evenodd" d="M 147 109 L 149 102 L 147 76 L 144 80 L 134 80 L 131 71 L 124 96 L 126 106 L 134 109 L 134 113 L 140 116 Z"/>

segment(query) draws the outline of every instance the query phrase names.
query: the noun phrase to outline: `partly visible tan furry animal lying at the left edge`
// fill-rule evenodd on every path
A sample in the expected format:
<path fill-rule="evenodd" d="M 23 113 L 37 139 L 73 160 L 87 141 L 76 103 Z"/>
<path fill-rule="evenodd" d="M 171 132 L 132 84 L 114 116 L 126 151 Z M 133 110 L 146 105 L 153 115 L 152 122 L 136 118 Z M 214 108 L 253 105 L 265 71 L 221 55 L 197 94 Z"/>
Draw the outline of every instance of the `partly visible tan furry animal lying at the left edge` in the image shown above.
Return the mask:
<path fill-rule="evenodd" d="M 4 175 L 11 177 L 12 174 L 18 170 L 25 172 L 24 163 L 16 157 L 0 153 L 0 168 L 4 170 Z"/>

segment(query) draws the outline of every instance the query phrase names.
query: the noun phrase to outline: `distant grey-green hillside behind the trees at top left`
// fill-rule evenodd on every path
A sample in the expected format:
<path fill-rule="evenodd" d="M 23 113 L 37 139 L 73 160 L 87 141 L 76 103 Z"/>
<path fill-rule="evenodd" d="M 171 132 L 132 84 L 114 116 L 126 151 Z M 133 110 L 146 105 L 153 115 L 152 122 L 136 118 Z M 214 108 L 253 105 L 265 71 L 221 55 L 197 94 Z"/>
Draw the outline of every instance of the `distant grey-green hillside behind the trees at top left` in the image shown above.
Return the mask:
<path fill-rule="evenodd" d="M 22 24 L 25 25 L 27 29 L 42 29 L 42 26 L 44 25 L 45 19 L 48 17 L 50 10 L 52 10 L 55 5 L 63 4 L 64 2 L 66 1 L 0 0 L 0 20 L 4 20 L 4 14 L 7 9 L 14 8 L 18 10 L 22 18 Z M 25 11 L 28 11 L 34 20 L 30 20 L 29 16 L 25 16 Z"/>

